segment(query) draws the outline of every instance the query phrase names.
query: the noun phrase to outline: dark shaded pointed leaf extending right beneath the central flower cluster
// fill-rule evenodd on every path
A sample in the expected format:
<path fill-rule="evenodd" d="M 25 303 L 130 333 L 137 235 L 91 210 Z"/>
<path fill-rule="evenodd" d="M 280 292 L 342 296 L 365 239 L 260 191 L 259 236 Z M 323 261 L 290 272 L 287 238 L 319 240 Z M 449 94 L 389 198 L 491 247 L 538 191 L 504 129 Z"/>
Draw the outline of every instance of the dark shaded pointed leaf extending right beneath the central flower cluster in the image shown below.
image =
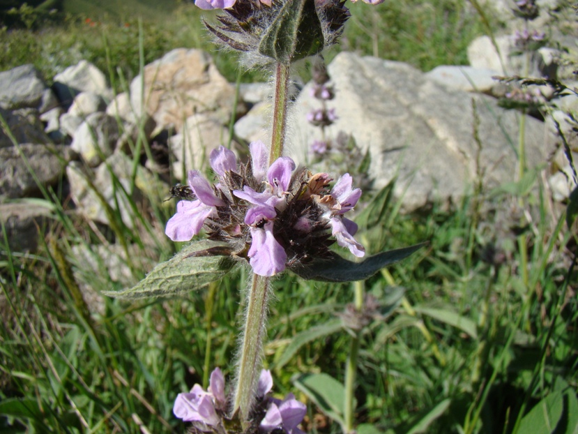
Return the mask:
<path fill-rule="evenodd" d="M 383 267 L 395 264 L 425 246 L 425 243 L 378 253 L 362 262 L 351 262 L 334 254 L 330 259 L 313 260 L 310 264 L 291 269 L 297 276 L 307 280 L 324 282 L 353 282 L 365 280 Z"/>

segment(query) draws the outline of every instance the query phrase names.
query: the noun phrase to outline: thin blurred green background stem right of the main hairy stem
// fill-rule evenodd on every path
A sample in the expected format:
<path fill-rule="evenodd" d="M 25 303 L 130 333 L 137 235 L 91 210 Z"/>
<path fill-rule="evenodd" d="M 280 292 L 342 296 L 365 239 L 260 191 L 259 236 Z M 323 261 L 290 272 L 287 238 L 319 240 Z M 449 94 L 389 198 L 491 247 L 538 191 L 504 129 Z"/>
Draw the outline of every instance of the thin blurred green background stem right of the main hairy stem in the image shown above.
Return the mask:
<path fill-rule="evenodd" d="M 358 312 L 363 309 L 364 300 L 363 282 L 355 283 L 355 295 L 353 304 Z M 347 362 L 345 364 L 345 403 L 344 403 L 344 414 L 343 414 L 343 431 L 345 434 L 353 432 L 353 414 L 355 413 L 355 381 L 357 373 L 357 357 L 359 354 L 359 346 L 361 332 L 356 330 L 355 336 L 351 337 L 351 342 L 349 343 L 349 354 L 347 356 Z"/>

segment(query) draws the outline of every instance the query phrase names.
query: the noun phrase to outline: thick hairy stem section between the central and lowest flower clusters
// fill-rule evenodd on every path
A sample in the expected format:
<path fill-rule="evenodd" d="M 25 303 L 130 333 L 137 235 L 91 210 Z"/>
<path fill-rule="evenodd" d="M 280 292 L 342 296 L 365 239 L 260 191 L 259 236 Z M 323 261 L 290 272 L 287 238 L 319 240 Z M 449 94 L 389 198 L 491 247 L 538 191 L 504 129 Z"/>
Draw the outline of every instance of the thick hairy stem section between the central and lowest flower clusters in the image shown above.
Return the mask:
<path fill-rule="evenodd" d="M 243 330 L 241 353 L 238 359 L 233 405 L 233 414 L 240 411 L 243 421 L 249 419 L 254 398 L 253 391 L 259 379 L 263 335 L 266 331 L 268 292 L 269 279 L 253 274 L 251 287 L 247 294 L 245 329 Z"/>

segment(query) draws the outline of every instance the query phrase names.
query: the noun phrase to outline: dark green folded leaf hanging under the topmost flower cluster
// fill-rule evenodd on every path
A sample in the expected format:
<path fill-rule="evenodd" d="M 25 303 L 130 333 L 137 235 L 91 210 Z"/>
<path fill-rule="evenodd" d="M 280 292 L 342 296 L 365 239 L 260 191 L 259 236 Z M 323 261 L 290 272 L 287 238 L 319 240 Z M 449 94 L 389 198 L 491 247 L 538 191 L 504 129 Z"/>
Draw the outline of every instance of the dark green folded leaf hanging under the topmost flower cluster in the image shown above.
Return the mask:
<path fill-rule="evenodd" d="M 315 0 L 291 0 L 268 27 L 259 43 L 259 53 L 289 65 L 291 61 L 323 50 L 324 36 Z"/>

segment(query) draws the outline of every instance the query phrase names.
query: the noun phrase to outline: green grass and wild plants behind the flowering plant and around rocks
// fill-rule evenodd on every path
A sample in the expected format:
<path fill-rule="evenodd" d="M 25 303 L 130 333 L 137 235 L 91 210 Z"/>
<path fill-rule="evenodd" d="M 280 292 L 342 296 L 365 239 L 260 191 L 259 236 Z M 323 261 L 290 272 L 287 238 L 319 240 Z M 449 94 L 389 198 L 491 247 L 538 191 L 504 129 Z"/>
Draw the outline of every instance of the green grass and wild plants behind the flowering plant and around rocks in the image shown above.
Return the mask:
<path fill-rule="evenodd" d="M 50 81 L 88 59 L 109 75 L 130 78 L 140 61 L 174 47 L 212 47 L 190 4 L 142 2 L 147 7 L 136 17 L 115 2 L 101 3 L 96 11 L 90 2 L 63 1 L 58 19 L 42 15 L 29 26 L 22 20 L 5 27 L 0 69 L 34 63 Z M 465 47 L 482 29 L 458 0 L 351 6 L 338 49 L 424 70 L 464 63 Z M 154 16 L 147 16 L 149 9 Z M 235 80 L 234 57 L 211 52 Z M 130 197 L 120 183 L 116 188 L 119 198 Z M 109 209 L 114 224 L 102 227 L 75 214 L 65 191 L 63 181 L 43 190 L 43 198 L 24 200 L 54 216 L 38 253 L 11 252 L 1 228 L 0 431 L 180 432 L 172 416 L 176 394 L 206 383 L 215 366 L 229 376 L 234 370 L 246 270 L 175 299 L 100 298 L 126 283 L 111 276 L 98 251 L 119 255 L 124 280 L 136 283 L 151 262 L 178 248 L 162 233 L 174 204 L 163 204 L 165 197 L 151 197 L 146 209 L 133 202 L 129 220 Z M 434 206 L 402 215 L 389 192 L 365 195 L 367 202 L 373 197 L 359 220 L 368 252 L 425 240 L 429 247 L 364 283 L 379 299 L 395 288 L 405 292 L 393 315 L 374 320 L 364 336 L 357 420 L 396 434 L 574 432 L 576 232 L 564 209 L 552 207 L 538 173 L 492 191 L 480 179 L 449 211 Z M 75 246 L 85 248 L 90 261 Z M 304 399 L 292 382 L 302 373 L 342 379 L 349 335 L 313 338 L 310 331 L 332 321 L 352 297 L 352 285 L 290 275 L 275 281 L 265 358 L 275 392 Z M 338 431 L 308 404 L 308 432 Z"/>

